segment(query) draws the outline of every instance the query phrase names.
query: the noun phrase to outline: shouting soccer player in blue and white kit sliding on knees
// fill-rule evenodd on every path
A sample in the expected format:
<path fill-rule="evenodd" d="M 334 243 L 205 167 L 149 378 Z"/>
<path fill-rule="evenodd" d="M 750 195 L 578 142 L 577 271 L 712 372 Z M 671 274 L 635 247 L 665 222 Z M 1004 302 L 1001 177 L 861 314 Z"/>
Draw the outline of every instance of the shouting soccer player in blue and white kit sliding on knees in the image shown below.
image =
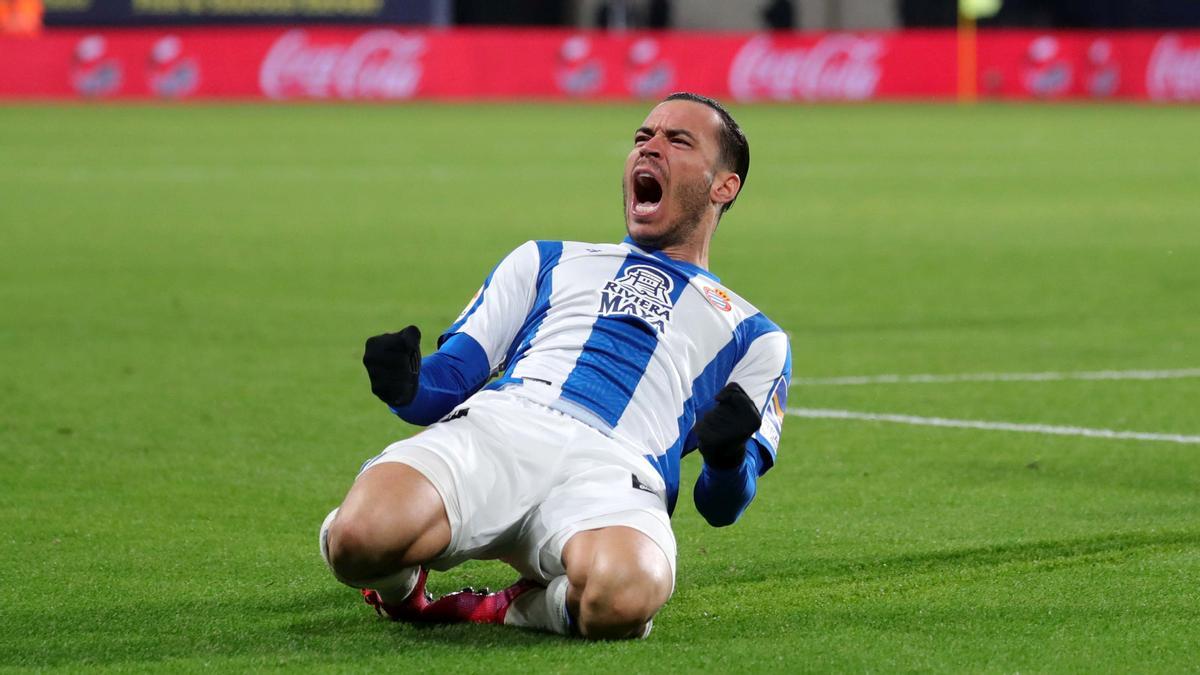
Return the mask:
<path fill-rule="evenodd" d="M 786 334 L 708 271 L 750 148 L 732 117 L 672 94 L 634 133 L 620 244 L 527 241 L 421 358 L 367 340 L 371 390 L 427 429 L 368 460 L 320 528 L 334 575 L 401 621 L 649 633 L 674 589 L 679 461 L 714 526 L 775 462 Z M 428 569 L 499 558 L 521 580 L 432 601 Z"/>

